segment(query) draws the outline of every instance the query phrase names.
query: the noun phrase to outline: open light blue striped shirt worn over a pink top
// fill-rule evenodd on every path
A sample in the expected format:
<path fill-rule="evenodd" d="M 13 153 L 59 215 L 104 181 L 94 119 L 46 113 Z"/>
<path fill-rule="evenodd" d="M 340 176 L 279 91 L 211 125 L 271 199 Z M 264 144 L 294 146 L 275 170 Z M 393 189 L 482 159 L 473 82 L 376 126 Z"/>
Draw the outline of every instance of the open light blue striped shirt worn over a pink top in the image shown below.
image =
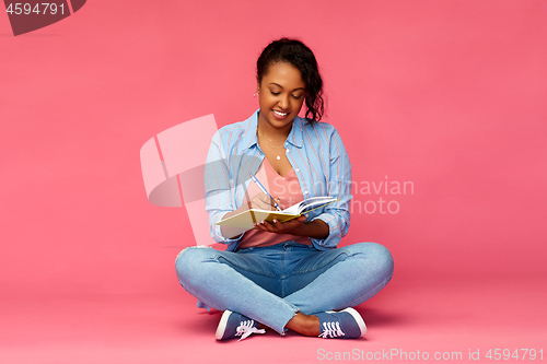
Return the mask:
<path fill-rule="evenodd" d="M 256 137 L 258 113 L 217 131 L 207 156 L 206 210 L 211 236 L 217 243 L 228 244 L 229 251 L 237 249 L 243 235 L 225 238 L 216 223 L 242 206 L 249 176 L 256 174 L 265 157 Z M 339 199 L 307 214 L 307 221 L 321 219 L 329 228 L 328 237 L 312 238 L 313 245 L 321 250 L 336 248 L 348 232 L 352 198 L 351 164 L 338 131 L 327 122 L 309 124 L 296 117 L 284 146 L 304 199 L 316 196 Z"/>

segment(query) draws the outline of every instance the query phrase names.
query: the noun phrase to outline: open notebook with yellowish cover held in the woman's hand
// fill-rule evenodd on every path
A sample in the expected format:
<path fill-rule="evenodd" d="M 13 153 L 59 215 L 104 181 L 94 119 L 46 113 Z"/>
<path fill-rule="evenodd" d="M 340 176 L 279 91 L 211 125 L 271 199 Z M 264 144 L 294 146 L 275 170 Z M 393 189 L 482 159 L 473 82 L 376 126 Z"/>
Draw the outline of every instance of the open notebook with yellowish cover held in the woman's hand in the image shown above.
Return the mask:
<path fill-rule="evenodd" d="M 249 230 L 255 227 L 255 222 L 260 222 L 263 220 L 268 222 L 272 222 L 274 220 L 286 222 L 335 201 L 338 201 L 338 199 L 323 196 L 311 197 L 302 202 L 291 206 L 288 209 L 284 209 L 283 211 L 249 209 L 236 215 L 221 220 L 217 223 L 217 225 Z"/>

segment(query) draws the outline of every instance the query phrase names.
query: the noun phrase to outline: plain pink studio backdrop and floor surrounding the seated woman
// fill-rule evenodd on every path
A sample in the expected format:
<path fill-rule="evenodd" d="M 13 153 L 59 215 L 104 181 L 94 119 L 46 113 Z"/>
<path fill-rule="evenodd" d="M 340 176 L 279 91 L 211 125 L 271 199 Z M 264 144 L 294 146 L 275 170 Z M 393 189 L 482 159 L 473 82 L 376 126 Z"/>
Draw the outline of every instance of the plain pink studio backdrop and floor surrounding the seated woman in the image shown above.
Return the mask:
<path fill-rule="evenodd" d="M 280 36 L 314 50 L 353 179 L 414 183 L 414 195 L 356 196 L 400 206 L 354 212 L 342 240 L 395 258 L 393 281 L 358 307 L 366 340 L 217 343 L 220 314 L 198 310 L 174 272 L 194 245 L 186 213 L 147 201 L 141 145 L 207 114 L 247 118 L 256 58 Z M 95 0 L 18 37 L 0 14 L 0 356 L 302 363 L 319 348 L 542 349 L 546 36 L 543 0 Z"/>

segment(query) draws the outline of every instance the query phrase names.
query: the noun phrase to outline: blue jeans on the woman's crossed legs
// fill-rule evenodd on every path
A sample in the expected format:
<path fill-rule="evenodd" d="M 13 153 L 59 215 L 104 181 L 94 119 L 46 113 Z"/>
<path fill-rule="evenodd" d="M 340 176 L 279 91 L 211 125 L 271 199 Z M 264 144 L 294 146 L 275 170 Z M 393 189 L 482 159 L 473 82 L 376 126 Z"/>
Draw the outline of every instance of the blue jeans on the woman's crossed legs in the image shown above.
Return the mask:
<path fill-rule="evenodd" d="M 219 310 L 230 309 L 279 333 L 296 312 L 357 306 L 393 275 L 393 258 L 375 243 L 330 250 L 286 242 L 235 253 L 189 247 L 176 261 L 181 285 Z"/>

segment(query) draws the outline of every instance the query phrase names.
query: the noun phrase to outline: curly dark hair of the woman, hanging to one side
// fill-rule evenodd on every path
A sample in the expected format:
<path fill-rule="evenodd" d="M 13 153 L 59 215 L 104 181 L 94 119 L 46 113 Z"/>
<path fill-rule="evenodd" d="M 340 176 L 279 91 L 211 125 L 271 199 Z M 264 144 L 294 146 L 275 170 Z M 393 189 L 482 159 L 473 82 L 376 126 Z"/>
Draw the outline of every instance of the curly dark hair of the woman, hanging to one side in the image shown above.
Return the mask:
<path fill-rule="evenodd" d="M 256 78 L 258 83 L 263 82 L 263 77 L 268 73 L 268 68 L 279 62 L 290 63 L 300 71 L 306 87 L 305 118 L 309 122 L 321 121 L 321 118 L 325 114 L 323 79 L 321 78 L 313 51 L 296 39 L 281 38 L 271 42 L 264 48 L 256 61 Z"/>

